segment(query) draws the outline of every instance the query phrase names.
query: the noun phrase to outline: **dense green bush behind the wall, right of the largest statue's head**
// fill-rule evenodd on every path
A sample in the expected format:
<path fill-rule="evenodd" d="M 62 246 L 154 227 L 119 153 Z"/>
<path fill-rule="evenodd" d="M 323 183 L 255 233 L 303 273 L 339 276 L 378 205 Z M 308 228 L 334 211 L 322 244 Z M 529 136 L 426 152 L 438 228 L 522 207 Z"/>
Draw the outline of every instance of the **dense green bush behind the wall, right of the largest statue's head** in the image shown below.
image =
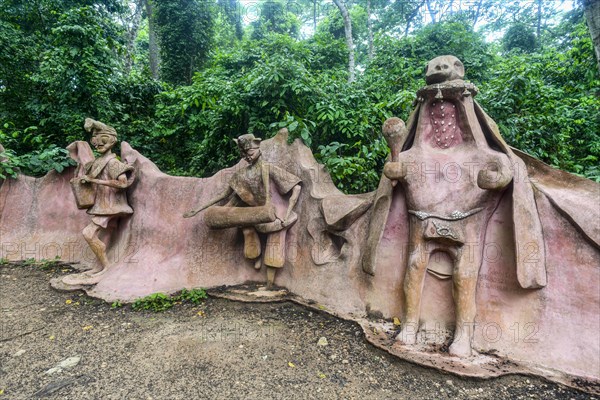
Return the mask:
<path fill-rule="evenodd" d="M 600 180 L 600 76 L 593 57 L 582 57 L 593 49 L 589 35 L 579 32 L 583 48 L 513 54 L 497 64 L 480 101 L 511 145 Z"/>

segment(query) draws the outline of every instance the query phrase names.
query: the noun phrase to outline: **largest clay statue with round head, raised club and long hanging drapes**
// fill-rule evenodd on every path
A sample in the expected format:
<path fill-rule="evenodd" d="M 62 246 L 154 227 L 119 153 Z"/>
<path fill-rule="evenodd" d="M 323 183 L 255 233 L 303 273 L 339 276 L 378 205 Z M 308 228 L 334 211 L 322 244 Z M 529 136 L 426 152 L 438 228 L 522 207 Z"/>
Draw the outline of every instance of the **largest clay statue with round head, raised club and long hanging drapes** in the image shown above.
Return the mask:
<path fill-rule="evenodd" d="M 428 64 L 428 86 L 418 92 L 418 106 L 408 123 L 386 121 L 383 132 L 392 149 L 384 168 L 389 184 L 380 185 L 370 225 L 363 268 L 374 273 L 377 246 L 389 212 L 395 182 L 405 197 L 410 247 L 404 277 L 403 328 L 397 339 L 417 341 L 421 292 L 433 256 L 449 262 L 456 312 L 449 352 L 471 355 L 476 287 L 487 225 L 502 194 L 512 183 L 519 283 L 546 284 L 544 245 L 533 191 L 524 182 L 525 167 L 499 135 L 495 124 L 473 101 L 477 89 L 462 80 L 464 67 L 453 56 Z M 434 271 L 435 273 L 435 271 Z"/>

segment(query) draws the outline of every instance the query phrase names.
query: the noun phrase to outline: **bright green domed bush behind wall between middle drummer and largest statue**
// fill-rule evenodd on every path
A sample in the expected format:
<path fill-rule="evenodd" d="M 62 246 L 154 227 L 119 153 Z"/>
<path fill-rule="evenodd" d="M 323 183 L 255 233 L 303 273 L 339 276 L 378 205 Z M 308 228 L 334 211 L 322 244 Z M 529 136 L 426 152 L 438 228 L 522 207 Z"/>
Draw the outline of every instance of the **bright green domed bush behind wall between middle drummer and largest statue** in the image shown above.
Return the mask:
<path fill-rule="evenodd" d="M 151 133 L 167 149 L 159 164 L 206 176 L 237 161 L 233 138 L 245 132 L 268 138 L 287 127 L 316 151 L 341 188 L 374 189 L 387 151 L 380 126 L 412 97 L 382 94 L 369 82 L 349 86 L 343 64 L 315 70 L 322 57 L 316 47 L 278 34 L 244 41 L 217 54 L 191 86 L 162 93 L 157 115 L 163 128 Z M 344 145 L 334 151 L 327 147 L 332 142 Z"/>

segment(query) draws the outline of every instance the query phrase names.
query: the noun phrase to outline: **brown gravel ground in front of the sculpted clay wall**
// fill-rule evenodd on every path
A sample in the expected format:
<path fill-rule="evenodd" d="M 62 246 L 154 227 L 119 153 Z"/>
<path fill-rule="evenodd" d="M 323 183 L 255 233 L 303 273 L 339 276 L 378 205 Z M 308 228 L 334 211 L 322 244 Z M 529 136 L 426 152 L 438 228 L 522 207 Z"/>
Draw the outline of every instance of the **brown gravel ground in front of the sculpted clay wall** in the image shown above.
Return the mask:
<path fill-rule="evenodd" d="M 112 308 L 49 287 L 67 272 L 0 267 L 0 400 L 596 398 L 536 377 L 415 366 L 357 324 L 289 302 Z"/>

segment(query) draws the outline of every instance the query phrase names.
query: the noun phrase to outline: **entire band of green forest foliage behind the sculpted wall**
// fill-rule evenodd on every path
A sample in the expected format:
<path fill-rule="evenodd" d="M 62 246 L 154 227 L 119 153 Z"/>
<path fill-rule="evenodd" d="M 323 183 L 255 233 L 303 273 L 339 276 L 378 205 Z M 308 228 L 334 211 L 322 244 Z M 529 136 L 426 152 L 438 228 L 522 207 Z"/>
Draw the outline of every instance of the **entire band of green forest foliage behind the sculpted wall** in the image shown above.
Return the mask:
<path fill-rule="evenodd" d="M 149 78 L 146 27 L 135 41 L 133 68 L 127 67 L 129 39 L 117 22 L 124 4 L 0 2 L 0 143 L 6 148 L 0 179 L 70 165 L 61 149 L 85 138 L 83 120 L 92 117 L 113 125 L 120 139 L 166 172 L 196 176 L 237 162 L 232 138 L 252 132 L 266 139 L 287 127 L 338 187 L 369 191 L 387 156 L 381 124 L 393 115 L 408 118 L 427 61 L 442 54 L 464 62 L 467 79 L 481 89 L 477 100 L 513 146 L 600 179 L 600 79 L 581 10 L 549 27 L 552 7 L 544 8 L 540 46 L 533 48 L 531 32 L 515 21 L 534 26 L 534 8 L 484 0 L 488 28 L 514 26 L 506 49 L 529 51 L 503 54 L 500 42 L 486 43 L 473 31 L 471 15 L 423 26 L 421 2 L 373 0 L 375 58 L 367 61 L 366 11 L 354 5 L 358 74 L 348 85 L 335 8 L 312 37 L 299 40 L 300 20 L 288 3 L 262 3 L 259 20 L 242 35 L 236 0 L 219 0 L 217 8 L 199 0 L 155 1 L 163 82 Z M 318 9 L 312 6 L 301 4 L 311 25 Z"/>

